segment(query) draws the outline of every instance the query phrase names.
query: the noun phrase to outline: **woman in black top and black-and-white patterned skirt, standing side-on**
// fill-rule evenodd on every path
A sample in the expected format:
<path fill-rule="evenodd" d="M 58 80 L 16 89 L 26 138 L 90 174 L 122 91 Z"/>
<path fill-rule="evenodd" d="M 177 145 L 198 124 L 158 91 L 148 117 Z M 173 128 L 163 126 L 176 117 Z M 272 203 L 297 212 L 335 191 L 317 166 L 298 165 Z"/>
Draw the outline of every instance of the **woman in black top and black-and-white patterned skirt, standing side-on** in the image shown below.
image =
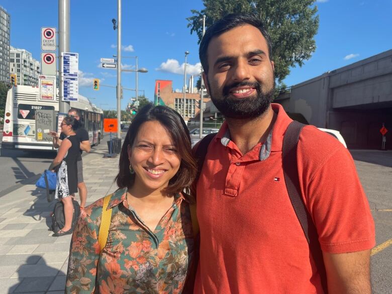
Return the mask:
<path fill-rule="evenodd" d="M 77 159 L 80 157 L 80 141 L 75 131 L 80 123 L 73 117 L 66 117 L 61 123 L 61 130 L 65 134 L 64 140 L 57 156 L 49 166 L 53 170 L 60 165 L 57 172 L 57 184 L 55 199 L 59 199 L 64 205 L 64 227 L 54 233 L 54 236 L 63 236 L 72 233 L 73 204 L 72 198 L 77 192 Z"/>

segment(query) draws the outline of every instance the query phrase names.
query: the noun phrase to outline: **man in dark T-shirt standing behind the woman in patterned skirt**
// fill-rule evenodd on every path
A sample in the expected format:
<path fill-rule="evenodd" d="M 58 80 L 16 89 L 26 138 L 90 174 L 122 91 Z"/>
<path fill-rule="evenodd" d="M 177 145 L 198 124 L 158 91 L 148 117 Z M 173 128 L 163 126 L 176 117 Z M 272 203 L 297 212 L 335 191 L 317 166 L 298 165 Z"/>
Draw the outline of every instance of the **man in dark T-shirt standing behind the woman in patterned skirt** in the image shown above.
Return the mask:
<path fill-rule="evenodd" d="M 76 120 L 80 122 L 80 112 L 77 109 L 71 108 L 68 111 L 68 115 L 74 117 Z M 83 161 L 81 158 L 81 154 L 83 151 L 90 152 L 91 146 L 88 138 L 88 133 L 83 127 L 79 127 L 75 130 L 76 137 L 80 142 L 80 154 L 77 159 L 77 188 L 79 191 L 80 197 L 80 208 L 84 208 L 86 205 L 87 199 L 87 187 L 83 180 Z M 53 147 L 59 148 L 61 146 L 62 141 L 66 137 L 63 132 L 61 132 L 60 136 L 58 136 L 57 132 L 49 132 L 49 135 L 53 137 Z"/>

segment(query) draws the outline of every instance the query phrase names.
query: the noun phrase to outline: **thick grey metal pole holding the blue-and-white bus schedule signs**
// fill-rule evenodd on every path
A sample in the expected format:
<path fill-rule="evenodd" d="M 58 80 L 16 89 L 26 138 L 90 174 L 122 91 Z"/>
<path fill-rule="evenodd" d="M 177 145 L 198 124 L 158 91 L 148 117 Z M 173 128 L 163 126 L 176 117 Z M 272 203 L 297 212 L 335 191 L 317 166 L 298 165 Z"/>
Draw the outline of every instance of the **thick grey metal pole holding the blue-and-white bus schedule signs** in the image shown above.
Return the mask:
<path fill-rule="evenodd" d="M 59 112 L 60 113 L 68 113 L 69 110 L 69 102 L 63 102 L 64 94 L 63 94 L 63 79 L 61 77 L 62 74 L 62 57 L 61 54 L 63 52 L 69 52 L 69 0 L 58 0 L 58 59 L 59 59 L 59 69 L 58 69 L 58 77 L 59 77 L 59 87 L 58 87 L 58 96 L 59 96 Z"/>

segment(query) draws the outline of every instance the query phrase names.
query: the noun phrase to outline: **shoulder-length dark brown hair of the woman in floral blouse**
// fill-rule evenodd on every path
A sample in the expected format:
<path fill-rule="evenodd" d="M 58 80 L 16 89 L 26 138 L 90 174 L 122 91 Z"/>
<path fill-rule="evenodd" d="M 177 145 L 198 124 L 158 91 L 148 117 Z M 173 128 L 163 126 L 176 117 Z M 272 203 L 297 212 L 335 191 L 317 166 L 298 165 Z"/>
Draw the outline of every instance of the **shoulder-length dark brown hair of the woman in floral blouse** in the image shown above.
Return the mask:
<path fill-rule="evenodd" d="M 133 185 L 135 174 L 129 172 L 128 145 L 133 145 L 141 125 L 150 121 L 157 121 L 166 129 L 181 158 L 177 173 L 169 180 L 163 192 L 167 194 L 180 192 L 190 186 L 197 172 L 197 164 L 191 151 L 189 131 L 184 120 L 175 110 L 152 104 L 146 105 L 138 112 L 128 129 L 121 148 L 119 173 L 115 178 L 117 186 L 129 188 Z"/>

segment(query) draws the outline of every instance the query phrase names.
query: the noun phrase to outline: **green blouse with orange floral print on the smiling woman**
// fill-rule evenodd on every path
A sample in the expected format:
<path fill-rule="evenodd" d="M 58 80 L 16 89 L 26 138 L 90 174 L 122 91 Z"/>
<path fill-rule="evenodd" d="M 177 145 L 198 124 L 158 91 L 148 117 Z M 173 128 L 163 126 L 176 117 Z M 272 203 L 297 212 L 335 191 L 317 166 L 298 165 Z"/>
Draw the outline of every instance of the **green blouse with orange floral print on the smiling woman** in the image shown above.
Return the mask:
<path fill-rule="evenodd" d="M 154 232 L 128 205 L 127 189 L 112 194 L 107 244 L 98 233 L 103 199 L 81 212 L 72 235 L 66 293 L 181 293 L 193 256 L 189 204 L 181 194 Z"/>

